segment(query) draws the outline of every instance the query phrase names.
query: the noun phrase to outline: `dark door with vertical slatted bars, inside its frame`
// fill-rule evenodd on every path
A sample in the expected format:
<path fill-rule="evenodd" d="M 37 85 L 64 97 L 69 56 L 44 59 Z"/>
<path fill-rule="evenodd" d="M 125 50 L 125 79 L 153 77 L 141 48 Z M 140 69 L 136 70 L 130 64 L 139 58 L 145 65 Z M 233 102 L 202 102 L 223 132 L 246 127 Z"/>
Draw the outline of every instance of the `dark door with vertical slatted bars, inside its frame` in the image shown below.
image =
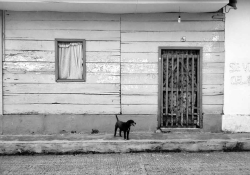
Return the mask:
<path fill-rule="evenodd" d="M 160 49 L 160 127 L 201 128 L 201 49 Z"/>

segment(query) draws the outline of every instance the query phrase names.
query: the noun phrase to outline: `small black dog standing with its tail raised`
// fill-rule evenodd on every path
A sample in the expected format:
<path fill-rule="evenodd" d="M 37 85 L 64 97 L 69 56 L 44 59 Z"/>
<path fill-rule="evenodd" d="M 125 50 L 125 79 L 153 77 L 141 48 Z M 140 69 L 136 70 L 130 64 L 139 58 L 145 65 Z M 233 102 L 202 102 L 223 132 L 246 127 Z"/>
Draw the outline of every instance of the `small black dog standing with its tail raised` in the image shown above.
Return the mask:
<path fill-rule="evenodd" d="M 116 115 L 116 119 L 117 122 L 115 124 L 115 133 L 114 133 L 114 137 L 116 136 L 116 131 L 117 128 L 120 129 L 120 137 L 122 137 L 122 131 L 124 133 L 124 139 L 129 140 L 129 131 L 130 131 L 130 127 L 131 126 L 135 126 L 136 123 L 133 120 L 128 120 L 127 122 L 122 122 L 118 119 L 117 115 Z"/>

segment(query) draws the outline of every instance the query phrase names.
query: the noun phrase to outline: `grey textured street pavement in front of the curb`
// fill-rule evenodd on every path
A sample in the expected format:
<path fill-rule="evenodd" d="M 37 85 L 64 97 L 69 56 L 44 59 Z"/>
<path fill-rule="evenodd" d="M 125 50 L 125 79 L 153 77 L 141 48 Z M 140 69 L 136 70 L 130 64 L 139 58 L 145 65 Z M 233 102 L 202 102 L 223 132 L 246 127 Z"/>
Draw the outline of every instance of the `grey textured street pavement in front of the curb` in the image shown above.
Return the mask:
<path fill-rule="evenodd" d="M 1 175 L 249 175 L 250 152 L 0 156 Z"/>

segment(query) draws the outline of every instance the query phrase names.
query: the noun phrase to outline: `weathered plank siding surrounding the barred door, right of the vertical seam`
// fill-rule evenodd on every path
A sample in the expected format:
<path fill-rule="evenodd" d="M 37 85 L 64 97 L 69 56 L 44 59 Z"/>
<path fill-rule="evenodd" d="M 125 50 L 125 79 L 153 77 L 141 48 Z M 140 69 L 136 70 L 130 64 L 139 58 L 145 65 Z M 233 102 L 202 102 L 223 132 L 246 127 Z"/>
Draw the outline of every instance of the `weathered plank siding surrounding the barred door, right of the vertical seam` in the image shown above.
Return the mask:
<path fill-rule="evenodd" d="M 225 23 L 216 13 L 127 14 L 121 16 L 122 113 L 152 114 L 158 106 L 158 48 L 203 47 L 202 106 L 222 113 Z M 182 42 L 181 38 L 186 41 Z M 151 106 L 150 106 L 151 105 Z M 156 114 L 156 113 L 155 113 Z"/>

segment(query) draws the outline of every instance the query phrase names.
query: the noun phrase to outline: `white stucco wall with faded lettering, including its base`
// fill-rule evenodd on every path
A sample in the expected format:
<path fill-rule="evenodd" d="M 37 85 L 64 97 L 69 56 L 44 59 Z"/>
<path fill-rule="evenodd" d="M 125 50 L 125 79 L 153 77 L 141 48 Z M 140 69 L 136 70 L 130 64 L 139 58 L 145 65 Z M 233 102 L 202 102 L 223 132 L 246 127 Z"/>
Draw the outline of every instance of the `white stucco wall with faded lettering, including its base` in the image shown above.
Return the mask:
<path fill-rule="evenodd" d="M 226 13 L 223 130 L 250 132 L 250 1 Z"/>

